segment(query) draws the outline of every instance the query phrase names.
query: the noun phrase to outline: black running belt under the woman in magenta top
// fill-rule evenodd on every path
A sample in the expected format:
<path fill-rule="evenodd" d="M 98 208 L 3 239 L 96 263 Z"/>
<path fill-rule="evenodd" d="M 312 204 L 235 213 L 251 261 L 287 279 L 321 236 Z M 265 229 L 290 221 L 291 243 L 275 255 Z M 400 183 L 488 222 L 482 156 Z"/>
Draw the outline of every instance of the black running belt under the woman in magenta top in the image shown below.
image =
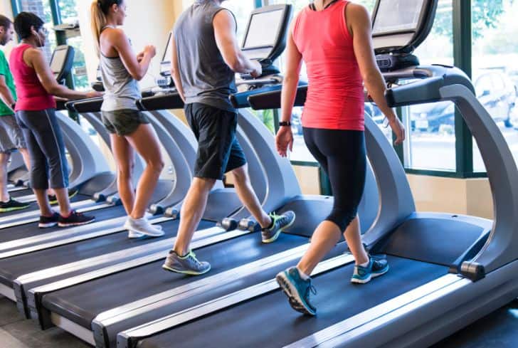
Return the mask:
<path fill-rule="evenodd" d="M 86 213 L 95 216 L 95 221 L 104 221 L 110 218 L 118 218 L 125 216 L 126 212 L 123 206 L 109 206 L 96 211 Z M 45 233 L 63 231 L 61 227 L 38 228 L 38 223 L 29 223 L 27 225 L 14 226 L 0 230 L 0 243 L 8 241 L 16 241 L 20 238 L 28 238 L 33 236 L 42 236 Z"/>

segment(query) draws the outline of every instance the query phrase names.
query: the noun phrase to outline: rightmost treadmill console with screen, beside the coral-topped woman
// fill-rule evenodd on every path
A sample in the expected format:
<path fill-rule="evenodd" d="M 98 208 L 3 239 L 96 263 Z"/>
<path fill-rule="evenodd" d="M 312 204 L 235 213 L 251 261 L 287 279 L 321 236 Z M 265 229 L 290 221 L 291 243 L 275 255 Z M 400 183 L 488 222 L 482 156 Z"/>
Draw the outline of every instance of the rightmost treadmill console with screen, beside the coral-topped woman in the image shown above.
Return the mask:
<path fill-rule="evenodd" d="M 438 0 L 378 0 L 372 41 L 382 72 L 419 65 L 413 51 L 430 33 Z"/>

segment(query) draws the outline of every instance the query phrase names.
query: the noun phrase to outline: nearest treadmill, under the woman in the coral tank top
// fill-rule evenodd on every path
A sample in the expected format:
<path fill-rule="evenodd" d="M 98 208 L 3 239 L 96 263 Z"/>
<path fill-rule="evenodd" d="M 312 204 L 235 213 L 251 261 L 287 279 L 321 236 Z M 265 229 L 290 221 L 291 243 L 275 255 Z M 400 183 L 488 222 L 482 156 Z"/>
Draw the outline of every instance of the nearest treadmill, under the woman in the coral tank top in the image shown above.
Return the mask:
<path fill-rule="evenodd" d="M 354 260 L 341 255 L 314 270 L 317 317 L 292 310 L 270 279 L 127 329 L 117 347 L 171 347 L 177 337 L 182 347 L 427 347 L 517 297 L 518 171 L 512 154 L 462 71 L 419 65 L 406 51 L 425 39 L 437 1 L 406 1 L 413 14 L 402 23 L 393 14 L 397 2 L 379 0 L 374 11 L 377 58 L 391 83 L 387 100 L 393 107 L 455 102 L 480 146 L 495 221 L 417 213 L 401 162 L 367 117 L 367 152 L 381 198 L 363 240 L 371 253 L 386 254 L 390 272 L 351 284 Z M 394 84 L 403 80 L 418 81 Z M 304 105 L 306 91 L 299 88 L 296 105 Z M 280 88 L 249 100 L 258 110 L 278 108 Z"/>

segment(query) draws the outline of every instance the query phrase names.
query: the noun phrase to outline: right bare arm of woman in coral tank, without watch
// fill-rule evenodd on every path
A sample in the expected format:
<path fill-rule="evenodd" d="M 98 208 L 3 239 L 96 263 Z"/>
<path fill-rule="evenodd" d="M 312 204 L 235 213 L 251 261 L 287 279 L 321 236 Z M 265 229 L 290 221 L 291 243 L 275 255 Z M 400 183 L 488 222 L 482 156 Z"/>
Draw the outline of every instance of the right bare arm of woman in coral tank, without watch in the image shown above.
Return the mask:
<path fill-rule="evenodd" d="M 354 55 L 356 56 L 365 88 L 381 112 L 384 113 L 388 122 L 390 122 L 392 130 L 396 133 L 396 144 L 401 144 L 405 139 L 405 130 L 385 99 L 385 79 L 381 75 L 381 71 L 376 64 L 376 57 L 374 56 L 372 24 L 369 12 L 364 6 L 349 4 L 346 8 L 346 19 L 353 36 Z"/>

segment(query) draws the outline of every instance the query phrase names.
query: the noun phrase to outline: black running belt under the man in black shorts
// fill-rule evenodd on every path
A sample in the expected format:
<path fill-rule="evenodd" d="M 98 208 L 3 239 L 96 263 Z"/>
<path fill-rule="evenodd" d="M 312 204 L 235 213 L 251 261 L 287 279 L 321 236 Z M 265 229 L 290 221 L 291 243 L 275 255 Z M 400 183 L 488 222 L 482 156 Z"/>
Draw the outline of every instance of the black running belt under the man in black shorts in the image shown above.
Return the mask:
<path fill-rule="evenodd" d="M 58 315 L 90 329 L 94 318 L 106 310 L 171 290 L 195 280 L 216 275 L 260 258 L 275 255 L 307 243 L 307 238 L 281 235 L 271 244 L 263 244 L 258 233 L 231 239 L 201 248 L 196 252 L 201 260 L 211 263 L 212 270 L 192 277 L 162 269 L 164 260 L 142 265 L 43 296 L 43 306 Z M 166 254 L 164 253 L 164 258 Z M 121 289 L 124 289 L 121 296 Z M 84 296 L 83 294 L 87 294 Z M 169 314 L 170 309 L 164 315 Z M 156 316 L 156 313 L 152 313 Z M 115 335 L 113 337 L 115 339 Z"/>

